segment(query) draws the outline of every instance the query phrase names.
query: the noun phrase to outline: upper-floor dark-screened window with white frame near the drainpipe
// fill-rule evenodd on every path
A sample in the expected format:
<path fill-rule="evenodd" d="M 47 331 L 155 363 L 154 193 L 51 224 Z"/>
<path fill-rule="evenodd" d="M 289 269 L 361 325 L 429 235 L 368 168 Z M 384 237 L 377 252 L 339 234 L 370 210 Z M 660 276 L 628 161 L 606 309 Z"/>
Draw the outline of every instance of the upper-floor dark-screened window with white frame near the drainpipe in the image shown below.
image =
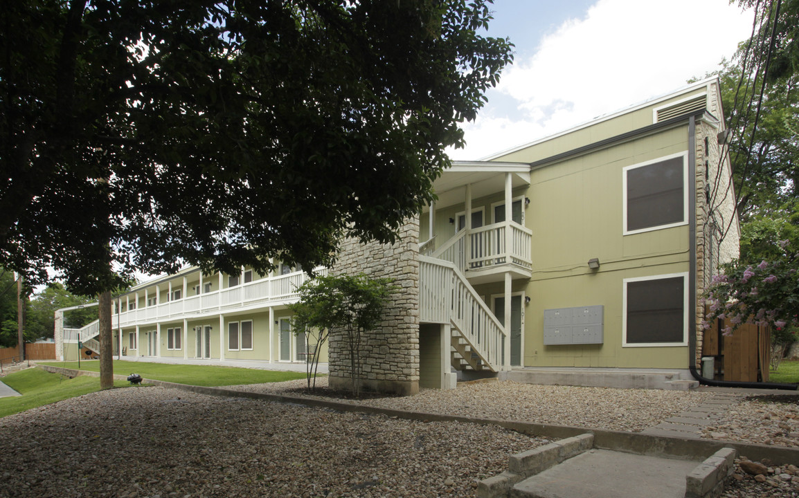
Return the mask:
<path fill-rule="evenodd" d="M 624 233 L 687 223 L 685 152 L 624 168 Z"/>

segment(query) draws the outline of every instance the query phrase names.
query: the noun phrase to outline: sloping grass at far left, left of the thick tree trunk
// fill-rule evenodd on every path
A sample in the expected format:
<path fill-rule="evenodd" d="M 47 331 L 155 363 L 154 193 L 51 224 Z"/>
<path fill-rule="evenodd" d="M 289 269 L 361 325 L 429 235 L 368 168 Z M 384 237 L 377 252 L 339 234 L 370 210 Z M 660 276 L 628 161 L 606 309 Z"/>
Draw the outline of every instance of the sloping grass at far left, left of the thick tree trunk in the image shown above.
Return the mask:
<path fill-rule="evenodd" d="M 100 377 L 70 379 L 36 368 L 9 373 L 2 381 L 22 396 L 0 397 L 0 417 L 100 390 Z M 128 383 L 114 381 L 113 385 L 125 387 Z"/>

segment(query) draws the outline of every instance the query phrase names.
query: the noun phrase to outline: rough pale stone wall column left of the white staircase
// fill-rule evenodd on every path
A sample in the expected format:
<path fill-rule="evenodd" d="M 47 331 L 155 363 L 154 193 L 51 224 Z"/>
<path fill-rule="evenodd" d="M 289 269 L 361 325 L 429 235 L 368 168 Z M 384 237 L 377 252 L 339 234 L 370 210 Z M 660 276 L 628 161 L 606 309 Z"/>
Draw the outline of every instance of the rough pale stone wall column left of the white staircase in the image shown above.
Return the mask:
<path fill-rule="evenodd" d="M 394 245 L 347 239 L 341 244 L 332 275 L 364 273 L 394 279 L 398 287 L 384 320 L 362 338 L 361 386 L 379 393 L 419 392 L 419 219 L 409 219 Z M 332 334 L 328 345 L 328 381 L 334 389 L 349 389 L 349 354 L 343 338 Z"/>

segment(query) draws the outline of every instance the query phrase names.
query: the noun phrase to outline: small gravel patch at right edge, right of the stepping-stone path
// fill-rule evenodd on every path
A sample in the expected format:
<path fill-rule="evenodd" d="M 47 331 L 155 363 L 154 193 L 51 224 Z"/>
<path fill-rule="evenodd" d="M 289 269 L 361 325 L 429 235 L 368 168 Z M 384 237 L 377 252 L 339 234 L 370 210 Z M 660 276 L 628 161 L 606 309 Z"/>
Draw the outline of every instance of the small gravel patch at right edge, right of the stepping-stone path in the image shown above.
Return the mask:
<path fill-rule="evenodd" d="M 799 448 L 799 396 L 773 394 L 739 401 L 702 437 Z M 799 462 L 796 462 L 799 464 Z"/>

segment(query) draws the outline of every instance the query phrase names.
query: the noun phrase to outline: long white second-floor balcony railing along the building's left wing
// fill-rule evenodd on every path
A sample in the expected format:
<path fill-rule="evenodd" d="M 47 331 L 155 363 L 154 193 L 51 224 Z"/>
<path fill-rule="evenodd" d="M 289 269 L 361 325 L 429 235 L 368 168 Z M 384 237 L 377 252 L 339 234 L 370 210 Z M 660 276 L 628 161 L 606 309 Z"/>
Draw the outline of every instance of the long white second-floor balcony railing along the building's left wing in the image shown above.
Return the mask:
<path fill-rule="evenodd" d="M 327 272 L 326 268 L 316 268 L 316 275 L 327 275 Z M 137 310 L 122 311 L 113 314 L 112 326 L 119 328 L 223 313 L 225 310 L 281 306 L 296 301 L 299 296 L 296 290 L 306 280 L 308 275 L 304 271 L 295 271 Z"/>

